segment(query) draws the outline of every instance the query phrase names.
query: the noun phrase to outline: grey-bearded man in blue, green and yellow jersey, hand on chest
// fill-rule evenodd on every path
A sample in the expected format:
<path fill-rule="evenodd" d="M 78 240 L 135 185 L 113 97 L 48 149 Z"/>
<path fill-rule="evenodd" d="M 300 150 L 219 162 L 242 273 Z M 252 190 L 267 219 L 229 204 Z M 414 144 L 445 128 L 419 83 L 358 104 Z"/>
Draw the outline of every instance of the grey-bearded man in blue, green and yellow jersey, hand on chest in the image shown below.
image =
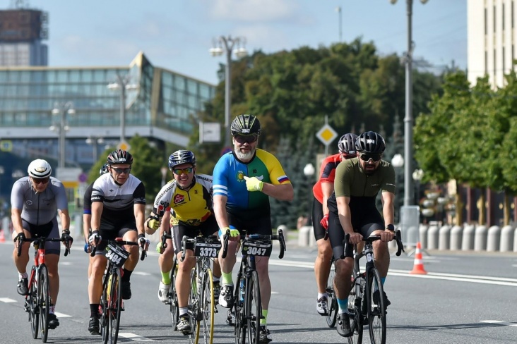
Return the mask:
<path fill-rule="evenodd" d="M 252 115 L 239 115 L 232 121 L 231 133 L 234 149 L 219 159 L 213 171 L 213 208 L 220 235 L 230 229 L 228 254 L 222 259 L 220 252 L 222 307 L 233 305 L 232 269 L 236 262 L 235 250 L 239 230 L 249 234 L 272 234 L 269 197 L 290 201 L 295 195 L 289 178 L 273 154 L 257 149 L 261 124 Z M 260 343 L 269 343 L 267 328 L 268 305 L 271 298 L 271 281 L 268 272 L 269 257 L 256 260 L 258 284 L 261 289 L 262 315 Z"/>

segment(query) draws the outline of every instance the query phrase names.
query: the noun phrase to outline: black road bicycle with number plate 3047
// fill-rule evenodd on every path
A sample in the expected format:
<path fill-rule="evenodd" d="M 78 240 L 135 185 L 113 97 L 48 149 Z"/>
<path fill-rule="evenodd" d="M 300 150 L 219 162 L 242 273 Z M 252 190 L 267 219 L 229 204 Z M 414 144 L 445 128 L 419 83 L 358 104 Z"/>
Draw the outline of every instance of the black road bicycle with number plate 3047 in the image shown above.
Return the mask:
<path fill-rule="evenodd" d="M 282 259 L 286 250 L 285 240 L 281 229 L 278 230 L 278 235 L 246 235 L 246 231 L 240 232 L 242 259 L 234 288 L 234 305 L 228 310 L 226 323 L 234 326 L 236 344 L 246 343 L 246 338 L 247 343 L 258 344 L 262 304 L 255 257 L 270 257 L 273 250 L 272 240 L 278 240 L 278 258 Z M 229 236 L 230 231 L 227 231 L 225 242 Z M 227 247 L 224 247 L 223 258 L 226 257 L 226 250 Z"/>

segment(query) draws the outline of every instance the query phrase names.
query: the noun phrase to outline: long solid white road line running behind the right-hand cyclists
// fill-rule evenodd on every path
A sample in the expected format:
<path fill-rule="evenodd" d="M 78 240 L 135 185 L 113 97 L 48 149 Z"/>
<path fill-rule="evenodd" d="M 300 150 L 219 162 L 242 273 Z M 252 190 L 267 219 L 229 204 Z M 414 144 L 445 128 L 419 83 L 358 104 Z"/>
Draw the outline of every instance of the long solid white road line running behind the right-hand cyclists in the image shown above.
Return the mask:
<path fill-rule="evenodd" d="M 295 260 L 271 259 L 269 261 L 269 264 L 278 265 L 278 266 L 292 266 L 292 267 L 297 267 L 297 268 L 302 268 L 302 269 L 314 269 L 314 263 L 298 262 Z M 442 274 L 442 273 L 434 273 L 434 272 L 428 272 L 427 275 L 412 275 L 412 274 L 409 274 L 409 272 L 410 271 L 407 271 L 407 270 L 390 269 L 388 272 L 388 275 L 389 276 L 413 277 L 413 278 L 441 279 L 441 280 L 448 280 L 448 281 L 460 281 L 460 282 L 471 282 L 471 283 L 484 283 L 484 284 L 494 284 L 494 285 L 509 285 L 512 287 L 517 287 L 517 278 L 460 275 L 460 274 Z"/>

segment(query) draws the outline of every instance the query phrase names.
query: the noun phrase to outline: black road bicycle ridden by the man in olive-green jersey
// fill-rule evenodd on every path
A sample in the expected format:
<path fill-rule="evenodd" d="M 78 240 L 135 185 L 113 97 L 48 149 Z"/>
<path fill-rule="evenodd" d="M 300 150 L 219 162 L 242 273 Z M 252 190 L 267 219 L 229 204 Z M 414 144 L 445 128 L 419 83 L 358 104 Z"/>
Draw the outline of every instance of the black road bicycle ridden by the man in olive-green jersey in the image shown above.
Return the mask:
<path fill-rule="evenodd" d="M 349 234 L 343 240 L 343 255 L 345 258 Z M 370 235 L 363 238 L 364 249 L 357 252 L 354 245 L 354 269 L 352 273 L 352 287 L 348 296 L 348 314 L 350 317 L 350 331 L 352 336 L 347 337 L 349 344 L 361 344 L 364 324 L 368 324 L 370 342 L 372 344 L 386 344 L 386 305 L 384 305 L 384 288 L 381 275 L 374 264 L 374 247 L 372 242 L 381 240 L 380 235 Z M 397 242 L 396 256 L 404 252 L 404 245 L 400 231 L 395 231 Z M 366 257 L 365 271 L 361 272 L 359 259 Z"/>

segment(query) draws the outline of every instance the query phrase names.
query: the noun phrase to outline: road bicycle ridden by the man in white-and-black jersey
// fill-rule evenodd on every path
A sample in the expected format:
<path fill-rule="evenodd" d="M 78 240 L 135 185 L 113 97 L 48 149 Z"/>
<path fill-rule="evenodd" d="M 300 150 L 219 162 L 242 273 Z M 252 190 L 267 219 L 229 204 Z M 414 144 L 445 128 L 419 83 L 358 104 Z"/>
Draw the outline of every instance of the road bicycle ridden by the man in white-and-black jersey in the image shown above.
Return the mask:
<path fill-rule="evenodd" d="M 142 248 L 140 260 L 147 257 L 147 252 L 145 252 L 145 248 L 139 242 L 126 241 L 122 240 L 122 238 L 116 238 L 115 240 L 102 239 L 100 242 L 107 242 L 105 250 L 107 265 L 104 276 L 102 276 L 102 295 L 99 305 L 100 332 L 102 343 L 116 344 L 119 337 L 120 312 L 124 310 L 121 279 L 124 272 L 122 266 L 129 258 L 129 252 L 123 246 L 140 245 Z M 92 257 L 95 256 L 96 251 L 97 246 L 93 247 Z"/>

